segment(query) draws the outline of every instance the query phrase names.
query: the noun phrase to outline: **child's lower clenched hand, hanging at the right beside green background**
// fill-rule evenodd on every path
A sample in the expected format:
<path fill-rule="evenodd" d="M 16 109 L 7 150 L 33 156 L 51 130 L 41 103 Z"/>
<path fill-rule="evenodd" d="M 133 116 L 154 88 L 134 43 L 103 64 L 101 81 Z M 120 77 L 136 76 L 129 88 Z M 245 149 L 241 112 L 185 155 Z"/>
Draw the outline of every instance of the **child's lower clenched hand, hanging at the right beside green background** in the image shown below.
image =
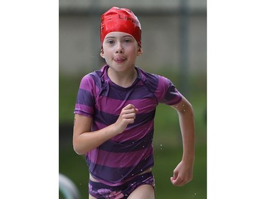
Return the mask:
<path fill-rule="evenodd" d="M 174 186 L 184 186 L 186 183 L 192 181 L 193 177 L 193 163 L 185 163 L 181 161 L 174 169 L 174 174 L 170 181 Z"/>

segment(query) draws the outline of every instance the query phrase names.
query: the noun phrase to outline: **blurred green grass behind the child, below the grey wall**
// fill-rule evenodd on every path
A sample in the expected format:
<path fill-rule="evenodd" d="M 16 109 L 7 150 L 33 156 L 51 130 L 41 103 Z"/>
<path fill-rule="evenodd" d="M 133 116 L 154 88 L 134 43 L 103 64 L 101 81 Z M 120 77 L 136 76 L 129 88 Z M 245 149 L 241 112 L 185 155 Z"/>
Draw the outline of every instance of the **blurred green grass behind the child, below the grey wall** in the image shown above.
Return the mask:
<path fill-rule="evenodd" d="M 179 89 L 182 76 L 173 71 L 156 71 L 166 76 Z M 59 77 L 59 121 L 60 149 L 59 172 L 68 176 L 76 184 L 82 198 L 88 198 L 87 183 L 89 173 L 84 156 L 72 149 L 72 124 L 74 103 L 80 80 L 84 74 Z M 184 96 L 192 103 L 196 127 L 196 159 L 193 181 L 183 187 L 174 187 L 170 176 L 182 158 L 182 137 L 178 115 L 173 108 L 160 104 L 155 115 L 155 135 L 153 147 L 155 166 L 153 174 L 156 183 L 156 199 L 161 198 L 206 198 L 206 75 L 189 76 L 188 91 Z M 179 91 L 181 91 L 179 89 Z M 65 128 L 64 128 L 65 127 Z M 60 195 L 62 198 L 62 195 Z M 81 198 L 81 199 L 82 199 Z"/>

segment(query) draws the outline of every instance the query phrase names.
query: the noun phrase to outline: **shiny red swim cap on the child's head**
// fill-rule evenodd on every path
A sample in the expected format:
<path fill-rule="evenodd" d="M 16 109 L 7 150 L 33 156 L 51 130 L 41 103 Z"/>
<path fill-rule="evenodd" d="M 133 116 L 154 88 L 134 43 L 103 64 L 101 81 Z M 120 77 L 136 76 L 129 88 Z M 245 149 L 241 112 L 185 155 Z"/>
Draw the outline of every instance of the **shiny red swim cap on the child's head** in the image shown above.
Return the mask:
<path fill-rule="evenodd" d="M 128 33 L 135 38 L 141 47 L 140 21 L 138 21 L 138 18 L 131 10 L 113 7 L 101 16 L 101 46 L 103 45 L 105 36 L 111 32 Z"/>

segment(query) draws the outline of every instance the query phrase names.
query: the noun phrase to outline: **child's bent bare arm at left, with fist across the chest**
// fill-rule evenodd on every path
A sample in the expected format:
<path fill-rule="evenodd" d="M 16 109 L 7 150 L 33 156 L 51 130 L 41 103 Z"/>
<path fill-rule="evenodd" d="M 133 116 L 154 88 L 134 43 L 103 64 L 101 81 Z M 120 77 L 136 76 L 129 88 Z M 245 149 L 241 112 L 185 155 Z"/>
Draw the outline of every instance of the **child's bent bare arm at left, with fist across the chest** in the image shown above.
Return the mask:
<path fill-rule="evenodd" d="M 93 118 L 84 115 L 74 115 L 73 148 L 77 154 L 85 154 L 99 147 L 102 143 L 122 133 L 128 124 L 134 123 L 138 109 L 132 104 L 125 106 L 116 120 L 116 123 L 94 132 L 92 129 Z"/>

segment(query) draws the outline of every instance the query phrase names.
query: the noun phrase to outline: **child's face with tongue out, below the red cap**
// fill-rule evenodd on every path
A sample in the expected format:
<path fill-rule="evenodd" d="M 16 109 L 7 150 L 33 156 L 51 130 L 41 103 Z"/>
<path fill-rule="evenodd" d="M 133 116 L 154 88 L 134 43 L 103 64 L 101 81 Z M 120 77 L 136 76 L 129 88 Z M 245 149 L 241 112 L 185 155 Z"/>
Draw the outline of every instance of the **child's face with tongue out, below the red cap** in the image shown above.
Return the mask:
<path fill-rule="evenodd" d="M 119 72 L 135 67 L 137 56 L 142 54 L 141 47 L 128 33 L 111 32 L 106 35 L 101 50 L 101 57 L 109 67 Z"/>

